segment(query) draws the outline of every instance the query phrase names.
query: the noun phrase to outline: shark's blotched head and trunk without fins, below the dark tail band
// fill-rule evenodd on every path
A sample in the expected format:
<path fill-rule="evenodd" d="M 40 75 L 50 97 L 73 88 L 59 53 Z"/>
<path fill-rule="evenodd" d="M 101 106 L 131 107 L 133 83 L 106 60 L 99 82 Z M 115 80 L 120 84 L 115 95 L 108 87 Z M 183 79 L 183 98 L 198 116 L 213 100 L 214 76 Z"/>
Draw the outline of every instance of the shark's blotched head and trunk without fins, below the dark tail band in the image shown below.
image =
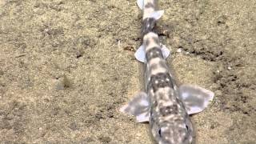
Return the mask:
<path fill-rule="evenodd" d="M 158 143 L 191 143 L 193 127 L 178 86 L 161 53 L 158 35 L 144 36 L 146 47 L 146 91 L 150 98 L 150 129 Z"/>

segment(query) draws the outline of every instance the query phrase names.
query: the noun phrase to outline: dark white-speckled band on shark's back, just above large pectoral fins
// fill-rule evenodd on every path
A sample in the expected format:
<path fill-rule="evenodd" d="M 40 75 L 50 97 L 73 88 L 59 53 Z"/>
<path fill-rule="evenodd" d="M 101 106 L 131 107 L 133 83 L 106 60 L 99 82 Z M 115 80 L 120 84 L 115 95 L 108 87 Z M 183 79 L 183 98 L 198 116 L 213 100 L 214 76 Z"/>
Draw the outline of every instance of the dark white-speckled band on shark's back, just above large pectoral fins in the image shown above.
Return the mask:
<path fill-rule="evenodd" d="M 169 81 L 167 79 L 169 79 Z M 150 77 L 150 82 L 149 82 L 147 88 L 153 89 L 153 91 L 156 92 L 159 88 L 162 88 L 162 87 L 174 88 L 172 79 L 170 78 L 170 74 L 159 73 L 159 74 L 152 75 Z"/>

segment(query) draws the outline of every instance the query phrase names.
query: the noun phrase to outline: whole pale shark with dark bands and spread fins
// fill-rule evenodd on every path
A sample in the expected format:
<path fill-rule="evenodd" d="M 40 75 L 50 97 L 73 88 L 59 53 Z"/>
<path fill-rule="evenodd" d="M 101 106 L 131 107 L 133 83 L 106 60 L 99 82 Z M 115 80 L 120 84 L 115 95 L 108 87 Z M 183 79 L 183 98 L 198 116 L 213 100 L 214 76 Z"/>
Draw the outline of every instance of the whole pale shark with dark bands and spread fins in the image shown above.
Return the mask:
<path fill-rule="evenodd" d="M 150 122 L 150 132 L 159 144 L 194 143 L 190 114 L 206 109 L 214 93 L 200 86 L 178 86 L 166 58 L 170 50 L 160 43 L 154 26 L 162 17 L 157 0 L 138 0 L 143 11 L 142 46 L 135 53 L 145 63 L 145 91 L 139 92 L 120 109 L 134 115 L 138 122 Z"/>

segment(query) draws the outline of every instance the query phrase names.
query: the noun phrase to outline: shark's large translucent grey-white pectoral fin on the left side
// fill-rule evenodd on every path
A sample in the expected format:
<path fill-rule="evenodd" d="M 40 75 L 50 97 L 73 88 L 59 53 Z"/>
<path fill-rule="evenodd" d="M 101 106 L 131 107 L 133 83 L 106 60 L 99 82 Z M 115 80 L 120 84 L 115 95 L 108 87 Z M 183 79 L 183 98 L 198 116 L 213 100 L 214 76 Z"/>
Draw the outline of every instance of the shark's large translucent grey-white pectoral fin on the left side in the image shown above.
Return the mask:
<path fill-rule="evenodd" d="M 120 109 L 122 113 L 136 116 L 137 122 L 148 122 L 150 117 L 150 102 L 147 94 L 137 94 L 127 105 Z"/>

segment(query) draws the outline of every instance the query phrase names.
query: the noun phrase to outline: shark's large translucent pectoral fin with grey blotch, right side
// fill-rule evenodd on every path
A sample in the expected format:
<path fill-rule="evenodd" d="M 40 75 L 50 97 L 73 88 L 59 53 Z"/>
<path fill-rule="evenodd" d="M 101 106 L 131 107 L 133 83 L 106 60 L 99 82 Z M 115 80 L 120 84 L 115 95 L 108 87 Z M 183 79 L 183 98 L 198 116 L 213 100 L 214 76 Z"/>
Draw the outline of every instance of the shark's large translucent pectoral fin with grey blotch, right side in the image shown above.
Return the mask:
<path fill-rule="evenodd" d="M 188 114 L 199 113 L 206 109 L 214 98 L 214 93 L 200 86 L 182 85 L 179 87 L 179 96 Z"/>

